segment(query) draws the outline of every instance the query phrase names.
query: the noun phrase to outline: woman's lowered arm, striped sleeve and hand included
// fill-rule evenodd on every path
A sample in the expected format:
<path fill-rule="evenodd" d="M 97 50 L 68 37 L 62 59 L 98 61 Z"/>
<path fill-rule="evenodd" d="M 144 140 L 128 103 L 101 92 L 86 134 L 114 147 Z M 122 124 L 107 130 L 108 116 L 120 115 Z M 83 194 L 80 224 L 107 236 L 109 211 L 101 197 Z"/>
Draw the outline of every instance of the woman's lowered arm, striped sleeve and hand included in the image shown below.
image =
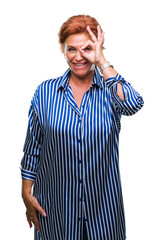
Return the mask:
<path fill-rule="evenodd" d="M 24 156 L 21 161 L 22 174 L 22 198 L 26 206 L 26 216 L 29 226 L 32 223 L 37 231 L 40 232 L 40 225 L 37 217 L 37 212 L 42 216 L 46 216 L 44 209 L 39 205 L 38 200 L 32 195 L 32 186 L 37 177 L 39 166 L 40 152 L 44 138 L 44 131 L 41 126 L 38 114 L 38 93 L 32 99 L 29 110 L 29 121 L 26 140 L 24 144 Z"/>

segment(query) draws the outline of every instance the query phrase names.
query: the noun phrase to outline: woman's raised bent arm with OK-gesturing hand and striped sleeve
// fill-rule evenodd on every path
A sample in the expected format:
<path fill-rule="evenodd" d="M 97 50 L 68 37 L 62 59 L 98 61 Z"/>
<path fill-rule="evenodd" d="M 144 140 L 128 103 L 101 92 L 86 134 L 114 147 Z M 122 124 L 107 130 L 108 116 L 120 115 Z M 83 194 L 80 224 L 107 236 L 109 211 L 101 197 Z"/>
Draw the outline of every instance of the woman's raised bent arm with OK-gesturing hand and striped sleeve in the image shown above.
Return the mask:
<path fill-rule="evenodd" d="M 96 37 L 87 26 L 87 31 L 91 37 L 84 46 L 80 48 L 81 55 L 89 62 L 101 68 L 107 61 L 103 54 L 104 32 L 100 26 L 97 27 L 98 36 Z M 90 48 L 90 51 L 85 49 Z M 130 83 L 125 81 L 112 67 L 103 70 L 103 77 L 115 102 L 118 113 L 132 115 L 136 113 L 144 104 L 142 97 L 134 90 Z"/>

